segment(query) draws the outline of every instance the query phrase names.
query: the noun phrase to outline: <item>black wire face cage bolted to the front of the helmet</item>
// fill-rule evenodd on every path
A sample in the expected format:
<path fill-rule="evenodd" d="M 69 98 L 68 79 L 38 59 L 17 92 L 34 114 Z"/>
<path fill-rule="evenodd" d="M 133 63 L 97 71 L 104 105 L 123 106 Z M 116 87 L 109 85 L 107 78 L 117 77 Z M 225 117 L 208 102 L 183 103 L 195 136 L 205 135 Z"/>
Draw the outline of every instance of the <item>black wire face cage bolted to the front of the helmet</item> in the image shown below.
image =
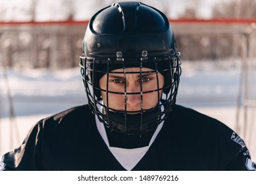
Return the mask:
<path fill-rule="evenodd" d="M 142 51 L 139 58 L 124 58 L 116 52 L 115 58 L 80 57 L 80 73 L 100 122 L 119 133 L 143 135 L 155 130 L 176 102 L 180 64 L 180 53 L 147 57 Z M 136 108 L 129 106 L 130 99 L 136 99 Z"/>

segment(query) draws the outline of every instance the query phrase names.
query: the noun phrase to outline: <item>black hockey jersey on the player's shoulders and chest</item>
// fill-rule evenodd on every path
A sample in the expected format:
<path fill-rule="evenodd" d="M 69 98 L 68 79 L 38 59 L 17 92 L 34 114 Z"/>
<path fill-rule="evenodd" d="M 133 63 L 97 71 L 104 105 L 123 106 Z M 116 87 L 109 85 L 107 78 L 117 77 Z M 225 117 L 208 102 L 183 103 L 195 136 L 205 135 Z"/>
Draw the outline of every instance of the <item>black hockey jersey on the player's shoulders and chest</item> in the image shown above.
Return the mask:
<path fill-rule="evenodd" d="M 1 160 L 0 160 L 1 161 Z M 88 105 L 39 121 L 3 170 L 124 170 L 109 151 Z M 133 170 L 255 170 L 242 139 L 221 122 L 174 106 Z"/>

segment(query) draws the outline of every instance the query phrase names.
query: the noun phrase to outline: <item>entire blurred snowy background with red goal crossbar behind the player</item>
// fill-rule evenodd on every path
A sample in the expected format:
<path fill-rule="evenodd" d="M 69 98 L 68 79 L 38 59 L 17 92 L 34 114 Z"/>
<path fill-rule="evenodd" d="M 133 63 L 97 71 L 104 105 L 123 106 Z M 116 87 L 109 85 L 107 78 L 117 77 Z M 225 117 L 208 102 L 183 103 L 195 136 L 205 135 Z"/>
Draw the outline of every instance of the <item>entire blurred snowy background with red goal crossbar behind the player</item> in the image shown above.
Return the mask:
<path fill-rule="evenodd" d="M 87 102 L 82 39 L 90 17 L 114 2 L 0 0 L 0 155 L 41 118 Z M 141 2 L 163 11 L 176 35 L 177 103 L 234 129 L 255 162 L 256 1 Z"/>

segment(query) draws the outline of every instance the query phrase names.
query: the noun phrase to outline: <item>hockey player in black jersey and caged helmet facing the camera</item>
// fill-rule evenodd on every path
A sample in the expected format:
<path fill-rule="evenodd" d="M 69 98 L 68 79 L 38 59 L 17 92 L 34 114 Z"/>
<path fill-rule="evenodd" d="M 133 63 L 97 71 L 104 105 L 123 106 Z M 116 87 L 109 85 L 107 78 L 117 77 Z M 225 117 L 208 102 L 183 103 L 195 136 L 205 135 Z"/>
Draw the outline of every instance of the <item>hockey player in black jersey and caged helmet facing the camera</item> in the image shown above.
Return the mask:
<path fill-rule="evenodd" d="M 39 121 L 0 170 L 255 170 L 232 129 L 176 104 L 180 64 L 162 12 L 102 9 L 80 57 L 88 104 Z"/>

